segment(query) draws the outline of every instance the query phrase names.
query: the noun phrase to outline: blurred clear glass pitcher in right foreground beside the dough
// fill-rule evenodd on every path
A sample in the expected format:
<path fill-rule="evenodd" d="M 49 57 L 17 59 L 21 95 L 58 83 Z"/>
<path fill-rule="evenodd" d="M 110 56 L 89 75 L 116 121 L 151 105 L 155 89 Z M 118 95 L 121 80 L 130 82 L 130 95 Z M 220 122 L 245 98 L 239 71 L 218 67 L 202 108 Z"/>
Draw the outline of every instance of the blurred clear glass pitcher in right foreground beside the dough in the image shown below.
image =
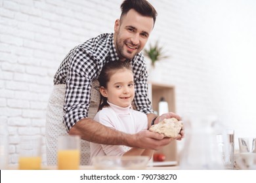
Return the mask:
<path fill-rule="evenodd" d="M 215 118 L 184 117 L 184 147 L 180 169 L 224 169 L 215 131 Z"/>

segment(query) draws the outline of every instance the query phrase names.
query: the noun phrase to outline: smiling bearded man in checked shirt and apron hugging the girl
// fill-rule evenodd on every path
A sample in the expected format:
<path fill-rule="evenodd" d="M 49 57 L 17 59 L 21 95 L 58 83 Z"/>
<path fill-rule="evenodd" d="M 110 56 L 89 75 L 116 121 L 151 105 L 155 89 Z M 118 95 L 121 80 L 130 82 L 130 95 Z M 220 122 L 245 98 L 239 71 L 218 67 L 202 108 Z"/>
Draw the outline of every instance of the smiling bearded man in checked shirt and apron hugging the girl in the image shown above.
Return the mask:
<path fill-rule="evenodd" d="M 148 73 L 140 51 L 154 27 L 156 10 L 146 0 L 125 0 L 121 10 L 114 34 L 102 34 L 75 47 L 54 76 L 54 89 L 47 108 L 48 165 L 56 165 L 56 139 L 60 135 L 79 135 L 84 140 L 81 144 L 81 165 L 89 163 L 89 142 L 158 150 L 171 141 L 150 131 L 125 134 L 92 120 L 100 100 L 100 94 L 95 90 L 96 79 L 103 65 L 114 60 L 130 61 L 135 77 L 134 105 L 147 114 L 148 127 L 163 118 L 180 119 L 172 112 L 157 117 L 148 100 Z"/>

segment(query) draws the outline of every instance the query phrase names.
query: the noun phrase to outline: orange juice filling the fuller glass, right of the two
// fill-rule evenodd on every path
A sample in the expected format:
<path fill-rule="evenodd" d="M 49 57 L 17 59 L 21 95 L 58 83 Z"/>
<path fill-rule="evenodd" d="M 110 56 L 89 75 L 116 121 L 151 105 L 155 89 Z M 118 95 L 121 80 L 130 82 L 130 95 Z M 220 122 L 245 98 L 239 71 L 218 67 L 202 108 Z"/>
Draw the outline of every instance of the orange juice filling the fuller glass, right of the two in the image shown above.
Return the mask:
<path fill-rule="evenodd" d="M 59 170 L 78 170 L 80 163 L 79 150 L 58 150 Z"/>

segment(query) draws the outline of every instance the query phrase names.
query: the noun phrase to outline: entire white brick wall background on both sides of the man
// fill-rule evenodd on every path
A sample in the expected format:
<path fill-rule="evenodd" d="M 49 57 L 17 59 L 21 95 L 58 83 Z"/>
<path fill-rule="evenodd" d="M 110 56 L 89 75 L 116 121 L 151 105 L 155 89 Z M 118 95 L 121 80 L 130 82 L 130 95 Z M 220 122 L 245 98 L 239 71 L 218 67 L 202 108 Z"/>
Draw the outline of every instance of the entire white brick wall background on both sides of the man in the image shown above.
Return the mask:
<path fill-rule="evenodd" d="M 149 42 L 159 40 L 171 56 L 158 63 L 162 75 L 156 81 L 176 86 L 177 113 L 217 114 L 236 134 L 245 135 L 241 124 L 253 125 L 249 132 L 255 134 L 249 123 L 255 122 L 255 112 L 240 108 L 256 103 L 250 67 L 255 1 L 150 2 L 158 19 Z M 9 127 L 10 163 L 18 161 L 20 136 L 44 137 L 53 75 L 64 56 L 77 44 L 112 32 L 120 3 L 0 0 L 0 122 Z"/>

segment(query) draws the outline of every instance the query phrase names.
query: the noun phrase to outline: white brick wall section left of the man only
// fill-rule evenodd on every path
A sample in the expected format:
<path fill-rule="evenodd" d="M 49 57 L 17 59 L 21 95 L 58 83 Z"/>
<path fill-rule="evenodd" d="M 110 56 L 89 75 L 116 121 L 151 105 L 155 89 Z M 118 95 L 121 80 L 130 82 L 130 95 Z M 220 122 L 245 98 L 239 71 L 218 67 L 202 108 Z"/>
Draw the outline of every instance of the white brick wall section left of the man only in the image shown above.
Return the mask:
<path fill-rule="evenodd" d="M 53 75 L 64 56 L 112 31 L 121 1 L 104 2 L 0 1 L 0 122 L 9 128 L 10 163 L 18 162 L 20 136 L 44 137 Z"/>

